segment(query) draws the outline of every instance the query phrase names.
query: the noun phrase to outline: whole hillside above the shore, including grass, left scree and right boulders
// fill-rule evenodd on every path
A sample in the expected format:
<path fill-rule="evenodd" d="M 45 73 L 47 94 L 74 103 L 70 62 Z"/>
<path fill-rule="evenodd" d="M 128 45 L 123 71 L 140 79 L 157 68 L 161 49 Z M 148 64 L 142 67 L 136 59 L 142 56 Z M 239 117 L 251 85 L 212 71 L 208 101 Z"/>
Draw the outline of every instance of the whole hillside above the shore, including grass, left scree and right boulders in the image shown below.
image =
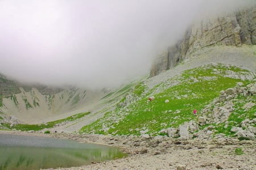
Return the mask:
<path fill-rule="evenodd" d="M 100 99 L 105 107 L 96 111 L 36 125 L 0 117 L 0 129 L 255 139 L 253 72 L 221 63 L 178 72 L 168 79 L 170 71 L 106 92 Z"/>

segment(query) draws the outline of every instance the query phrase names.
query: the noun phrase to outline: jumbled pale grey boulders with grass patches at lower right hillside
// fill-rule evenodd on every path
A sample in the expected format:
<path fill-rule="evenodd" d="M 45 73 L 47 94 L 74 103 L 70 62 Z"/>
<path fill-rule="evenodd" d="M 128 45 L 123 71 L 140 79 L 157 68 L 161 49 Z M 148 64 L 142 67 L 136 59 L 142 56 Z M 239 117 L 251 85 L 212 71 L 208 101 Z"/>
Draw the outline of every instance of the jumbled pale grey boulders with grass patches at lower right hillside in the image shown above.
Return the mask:
<path fill-rule="evenodd" d="M 255 108 L 255 102 L 253 96 L 256 88 L 256 79 L 253 83 L 244 86 L 242 82 L 237 83 L 234 88 L 228 88 L 227 90 L 222 90 L 220 96 L 214 99 L 212 103 L 206 105 L 204 109 L 200 112 L 203 116 L 199 116 L 197 121 L 191 120 L 189 122 L 184 122 L 180 124 L 178 128 L 167 128 L 162 129 L 159 133 L 165 133 L 168 137 L 178 138 L 180 140 L 192 139 L 192 138 L 212 138 L 216 130 L 216 125 L 223 124 L 224 128 L 230 128 L 231 132 L 235 133 L 237 138 L 250 139 L 255 141 L 256 134 L 256 118 L 246 118 L 241 121 L 240 124 L 234 123 L 230 116 L 238 114 L 237 112 L 251 111 Z M 240 100 L 239 96 L 248 97 L 246 101 Z M 250 97 L 249 97 L 250 96 Z M 234 103 L 241 105 L 241 108 L 236 108 Z M 241 109 L 241 110 L 239 110 Z M 243 113 L 240 113 L 240 118 Z M 234 123 L 234 124 L 233 124 Z M 204 129 L 201 127 L 206 126 Z M 216 137 L 222 138 L 225 134 L 215 134 Z"/>

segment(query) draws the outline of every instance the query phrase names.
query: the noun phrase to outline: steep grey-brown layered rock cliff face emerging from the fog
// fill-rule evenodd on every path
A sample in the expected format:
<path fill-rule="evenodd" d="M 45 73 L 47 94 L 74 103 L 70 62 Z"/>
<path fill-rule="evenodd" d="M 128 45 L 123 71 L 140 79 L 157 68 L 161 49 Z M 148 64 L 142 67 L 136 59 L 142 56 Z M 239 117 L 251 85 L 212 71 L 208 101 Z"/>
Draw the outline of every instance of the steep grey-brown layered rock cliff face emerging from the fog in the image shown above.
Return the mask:
<path fill-rule="evenodd" d="M 193 51 L 210 45 L 256 45 L 256 7 L 234 11 L 216 18 L 193 24 L 185 32 L 183 40 L 170 46 L 167 52 L 156 58 L 150 76 L 171 69 Z"/>

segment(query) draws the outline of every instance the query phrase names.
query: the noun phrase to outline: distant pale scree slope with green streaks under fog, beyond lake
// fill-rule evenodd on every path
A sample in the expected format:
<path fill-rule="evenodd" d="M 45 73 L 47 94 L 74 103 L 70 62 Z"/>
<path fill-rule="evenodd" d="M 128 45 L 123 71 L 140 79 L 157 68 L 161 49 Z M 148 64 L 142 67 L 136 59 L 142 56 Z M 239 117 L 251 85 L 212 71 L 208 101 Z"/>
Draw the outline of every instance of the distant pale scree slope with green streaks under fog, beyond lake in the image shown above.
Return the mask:
<path fill-rule="evenodd" d="M 0 80 L 0 116 L 14 116 L 19 121 L 30 124 L 57 120 L 63 118 L 61 115 L 68 117 L 88 112 L 108 94 L 108 91 L 92 91 L 77 87 L 28 86 L 3 75 Z"/>

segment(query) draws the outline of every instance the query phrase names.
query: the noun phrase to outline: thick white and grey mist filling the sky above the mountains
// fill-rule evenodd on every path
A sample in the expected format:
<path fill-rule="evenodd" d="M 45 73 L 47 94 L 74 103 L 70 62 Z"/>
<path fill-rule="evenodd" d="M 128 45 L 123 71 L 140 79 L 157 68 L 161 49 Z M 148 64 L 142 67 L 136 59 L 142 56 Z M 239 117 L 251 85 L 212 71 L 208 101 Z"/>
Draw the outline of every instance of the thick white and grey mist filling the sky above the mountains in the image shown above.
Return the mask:
<path fill-rule="evenodd" d="M 0 0 L 0 73 L 112 87 L 149 73 L 193 20 L 251 0 Z"/>

